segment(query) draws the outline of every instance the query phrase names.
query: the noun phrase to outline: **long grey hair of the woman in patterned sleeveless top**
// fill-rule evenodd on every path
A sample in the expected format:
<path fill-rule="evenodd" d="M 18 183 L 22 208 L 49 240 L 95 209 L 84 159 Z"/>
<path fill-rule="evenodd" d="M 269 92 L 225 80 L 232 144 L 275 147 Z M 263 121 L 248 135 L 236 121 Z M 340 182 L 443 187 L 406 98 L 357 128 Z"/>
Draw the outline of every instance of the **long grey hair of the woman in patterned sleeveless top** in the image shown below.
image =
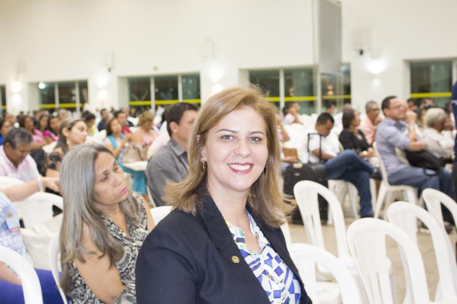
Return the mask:
<path fill-rule="evenodd" d="M 63 158 L 60 166 L 60 189 L 63 197 L 63 219 L 59 243 L 62 262 L 60 285 L 67 294 L 72 288 L 71 262 L 84 262 L 83 254 L 93 254 L 84 247 L 84 231 L 90 233 L 91 241 L 102 255 L 108 255 L 114 265 L 124 255 L 122 245 L 110 234 L 102 213 L 93 204 L 95 184 L 95 160 L 100 153 L 111 151 L 95 143 L 84 143 L 72 148 Z M 129 194 L 120 203 L 125 216 L 138 223 L 139 205 Z"/>

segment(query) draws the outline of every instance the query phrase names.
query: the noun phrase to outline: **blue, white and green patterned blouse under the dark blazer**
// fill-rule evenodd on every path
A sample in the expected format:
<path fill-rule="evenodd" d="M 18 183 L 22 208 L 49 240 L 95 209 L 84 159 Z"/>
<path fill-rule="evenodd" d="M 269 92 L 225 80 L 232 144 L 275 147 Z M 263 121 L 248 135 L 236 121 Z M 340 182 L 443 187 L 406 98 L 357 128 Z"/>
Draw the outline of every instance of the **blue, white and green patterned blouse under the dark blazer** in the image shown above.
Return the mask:
<path fill-rule="evenodd" d="M 225 221 L 241 255 L 262 284 L 272 304 L 299 304 L 300 281 L 273 249 L 247 210 L 246 213 L 249 217 L 251 233 L 258 240 L 262 252 L 247 249 L 243 230 Z"/>

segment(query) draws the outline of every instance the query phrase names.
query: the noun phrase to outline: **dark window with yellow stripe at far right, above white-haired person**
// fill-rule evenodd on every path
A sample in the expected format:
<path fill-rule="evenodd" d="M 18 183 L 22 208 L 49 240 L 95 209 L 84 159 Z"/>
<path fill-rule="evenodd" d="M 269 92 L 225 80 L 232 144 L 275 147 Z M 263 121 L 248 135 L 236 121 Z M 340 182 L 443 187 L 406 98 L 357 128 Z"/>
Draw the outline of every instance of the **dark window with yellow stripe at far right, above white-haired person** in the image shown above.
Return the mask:
<path fill-rule="evenodd" d="M 411 98 L 418 105 L 422 98 L 431 98 L 438 106 L 450 101 L 452 60 L 411 62 Z"/>

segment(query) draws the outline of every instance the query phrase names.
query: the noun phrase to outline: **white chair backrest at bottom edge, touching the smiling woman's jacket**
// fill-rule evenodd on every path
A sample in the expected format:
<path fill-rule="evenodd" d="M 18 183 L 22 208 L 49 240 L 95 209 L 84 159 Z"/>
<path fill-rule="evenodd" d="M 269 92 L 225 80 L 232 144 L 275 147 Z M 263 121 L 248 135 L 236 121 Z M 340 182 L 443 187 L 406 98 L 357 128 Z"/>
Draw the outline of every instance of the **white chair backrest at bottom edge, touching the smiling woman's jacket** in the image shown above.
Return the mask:
<path fill-rule="evenodd" d="M 293 263 L 295 263 L 299 270 L 306 292 L 313 300 L 313 303 L 319 303 L 316 287 L 317 263 L 323 265 L 335 277 L 335 280 L 340 286 L 343 303 L 362 303 L 354 278 L 344 263 L 336 256 L 319 247 L 302 243 L 290 244 L 288 250 Z"/>

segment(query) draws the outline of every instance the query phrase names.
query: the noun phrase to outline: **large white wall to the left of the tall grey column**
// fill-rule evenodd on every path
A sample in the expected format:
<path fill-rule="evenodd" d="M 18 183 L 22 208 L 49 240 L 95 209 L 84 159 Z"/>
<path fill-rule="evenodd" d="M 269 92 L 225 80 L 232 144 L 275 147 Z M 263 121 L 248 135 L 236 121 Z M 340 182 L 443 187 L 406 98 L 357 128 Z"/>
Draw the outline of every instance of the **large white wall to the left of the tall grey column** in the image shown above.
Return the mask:
<path fill-rule="evenodd" d="M 239 84 L 240 69 L 312 65 L 311 20 L 311 0 L 5 0 L 0 84 L 8 109 L 18 112 L 36 104 L 30 83 L 87 79 L 95 110 L 118 107 L 125 96 L 119 77 L 200 72 L 206 100 L 214 70 L 229 87 Z M 212 59 L 204 59 L 206 37 Z M 109 53 L 114 68 L 107 73 Z M 101 77 L 108 78 L 106 100 L 98 97 Z M 13 98 L 15 80 L 21 91 Z"/>

